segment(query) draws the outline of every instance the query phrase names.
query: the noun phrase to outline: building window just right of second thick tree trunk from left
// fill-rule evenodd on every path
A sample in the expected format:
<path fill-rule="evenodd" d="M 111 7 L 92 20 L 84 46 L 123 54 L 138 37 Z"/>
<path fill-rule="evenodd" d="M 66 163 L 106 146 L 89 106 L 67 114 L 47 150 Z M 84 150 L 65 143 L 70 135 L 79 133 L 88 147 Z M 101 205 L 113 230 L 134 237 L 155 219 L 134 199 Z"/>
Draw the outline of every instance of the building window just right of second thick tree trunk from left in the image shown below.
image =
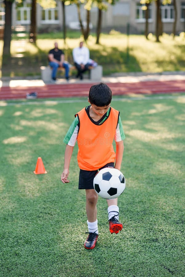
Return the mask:
<path fill-rule="evenodd" d="M 41 22 L 42 24 L 52 24 L 52 23 L 59 23 L 58 19 L 58 5 L 52 9 L 44 10 L 42 8 L 41 11 Z"/>

